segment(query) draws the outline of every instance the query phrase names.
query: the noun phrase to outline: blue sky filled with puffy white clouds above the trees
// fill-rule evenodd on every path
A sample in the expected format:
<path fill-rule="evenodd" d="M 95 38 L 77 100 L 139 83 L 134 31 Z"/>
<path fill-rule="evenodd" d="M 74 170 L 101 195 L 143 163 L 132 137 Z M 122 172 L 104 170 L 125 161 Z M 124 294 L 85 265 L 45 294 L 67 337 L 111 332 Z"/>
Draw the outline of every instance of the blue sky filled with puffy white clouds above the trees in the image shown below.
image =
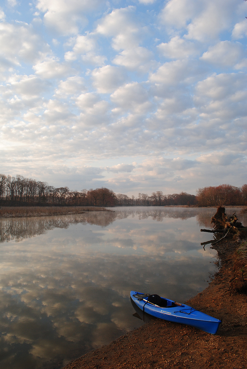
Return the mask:
<path fill-rule="evenodd" d="M 137 196 L 247 183 L 243 0 L 2 0 L 0 173 Z"/>

